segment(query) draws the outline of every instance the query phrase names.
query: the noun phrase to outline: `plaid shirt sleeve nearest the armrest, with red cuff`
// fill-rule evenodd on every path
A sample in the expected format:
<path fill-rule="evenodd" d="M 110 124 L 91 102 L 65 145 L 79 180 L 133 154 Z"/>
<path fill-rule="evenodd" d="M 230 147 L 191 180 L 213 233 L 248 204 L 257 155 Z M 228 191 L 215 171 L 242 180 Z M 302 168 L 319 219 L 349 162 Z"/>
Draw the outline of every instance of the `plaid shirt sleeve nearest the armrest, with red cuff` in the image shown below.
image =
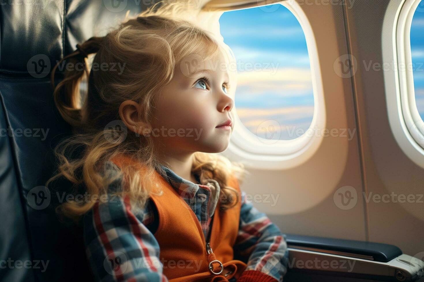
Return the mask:
<path fill-rule="evenodd" d="M 237 282 L 283 281 L 288 258 L 285 236 L 265 213 L 246 201 L 244 191 L 241 201 L 239 232 L 233 249 L 234 259 L 247 266 Z"/>

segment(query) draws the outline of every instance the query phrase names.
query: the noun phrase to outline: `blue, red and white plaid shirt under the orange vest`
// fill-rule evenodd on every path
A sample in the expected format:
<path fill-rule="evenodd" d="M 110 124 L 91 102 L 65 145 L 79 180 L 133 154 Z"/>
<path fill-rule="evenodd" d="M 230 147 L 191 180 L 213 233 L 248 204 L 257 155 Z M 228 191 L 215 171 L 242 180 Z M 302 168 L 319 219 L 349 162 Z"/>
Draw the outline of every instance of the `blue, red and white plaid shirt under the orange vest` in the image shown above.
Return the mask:
<path fill-rule="evenodd" d="M 112 174 L 119 169 L 112 162 L 106 162 L 104 168 L 105 173 Z M 207 238 L 220 192 L 218 182 L 209 179 L 205 185 L 196 184 L 167 167 L 162 168 L 166 172 L 162 176 L 190 206 Z M 143 211 L 133 211 L 127 197 L 114 197 L 113 193 L 121 189 L 120 185 L 120 179 L 111 183 L 106 199 L 100 205 L 96 203 L 83 217 L 86 255 L 95 279 L 166 282 L 168 279 L 162 273 L 163 265 L 159 260 L 159 243 L 153 235 L 158 227 L 156 207 L 149 199 Z M 241 196 L 234 259 L 247 264 L 243 274 L 248 271 L 254 276 L 259 274 L 257 277 L 261 281 L 282 281 L 287 271 L 288 255 L 284 235 L 264 213 L 245 200 L 244 191 Z M 238 280 L 253 281 L 242 277 Z M 235 281 L 235 278 L 229 281 Z"/>

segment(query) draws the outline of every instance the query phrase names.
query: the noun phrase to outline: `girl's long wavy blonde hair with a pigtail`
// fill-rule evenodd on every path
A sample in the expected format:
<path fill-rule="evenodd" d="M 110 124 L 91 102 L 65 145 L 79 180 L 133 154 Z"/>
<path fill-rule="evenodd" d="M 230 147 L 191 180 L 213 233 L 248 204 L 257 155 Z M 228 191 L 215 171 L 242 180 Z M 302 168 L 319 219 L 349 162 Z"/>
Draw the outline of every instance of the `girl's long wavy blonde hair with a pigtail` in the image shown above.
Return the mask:
<path fill-rule="evenodd" d="M 64 177 L 73 183 L 73 194 L 76 194 L 75 187 L 83 184 L 86 193 L 100 196 L 108 193 L 107 187 L 112 181 L 122 177 L 131 202 L 136 203 L 138 208 L 145 206 L 156 185 L 152 176 L 155 171 L 164 173 L 153 154 L 151 137 L 128 130 L 125 138 L 119 142 L 110 142 L 110 136 L 123 136 L 122 128 L 112 126 L 105 129 L 105 126 L 111 121 L 120 120 L 118 109 L 126 100 L 140 103 L 142 110 L 139 115 L 143 116 L 139 118 L 150 120 L 155 93 L 160 93 L 161 88 L 170 82 L 174 68 L 182 58 L 190 54 L 204 54 L 207 60 L 223 49 L 208 31 L 196 27 L 192 22 L 169 16 L 169 11 L 180 8 L 177 2 L 159 7 L 162 2 L 156 3 L 136 18 L 128 19 L 104 37 L 89 38 L 53 68 L 51 83 L 54 101 L 64 120 L 73 126 L 74 134 L 56 146 L 58 170 L 46 186 Z M 116 72 L 101 69 L 89 72 L 87 56 L 93 53 L 93 63 L 124 64 L 123 73 L 117 75 Z M 73 64 L 82 63 L 84 68 L 65 70 L 64 79 L 55 86 L 56 68 L 64 60 Z M 79 89 L 82 79 L 87 80 L 86 95 L 81 95 Z M 78 150 L 81 151 L 80 155 L 71 158 Z M 113 178 L 99 172 L 104 162 L 119 154 L 131 156 L 131 159 L 142 163 L 145 171 L 140 174 L 134 167 L 122 167 Z M 217 181 L 221 187 L 220 194 L 225 194 L 226 199 L 234 199 L 237 194 L 233 187 L 226 185 L 229 178 L 236 177 L 242 181 L 246 173 L 242 163 L 230 162 L 218 154 L 203 152 L 194 153 L 192 172 L 199 175 L 201 181 Z M 222 211 L 240 201 L 239 197 L 235 199 L 235 202 L 221 203 Z M 71 201 L 59 205 L 57 211 L 76 220 L 93 205 L 94 201 Z"/>

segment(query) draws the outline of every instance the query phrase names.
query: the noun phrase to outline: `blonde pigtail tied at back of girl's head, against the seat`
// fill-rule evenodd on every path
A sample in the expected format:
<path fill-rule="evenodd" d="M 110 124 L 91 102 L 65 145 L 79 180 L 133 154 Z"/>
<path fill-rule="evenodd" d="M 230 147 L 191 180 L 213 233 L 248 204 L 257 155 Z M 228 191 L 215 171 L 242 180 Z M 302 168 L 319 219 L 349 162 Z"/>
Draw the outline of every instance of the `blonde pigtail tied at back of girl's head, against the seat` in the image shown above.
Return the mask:
<path fill-rule="evenodd" d="M 79 85 L 84 74 L 87 79 L 89 77 L 87 57 L 89 54 L 98 52 L 102 41 L 103 37 L 93 36 L 83 44 L 77 44 L 77 49 L 63 57 L 51 72 L 50 82 L 54 102 L 62 118 L 73 127 L 82 125 L 81 104 L 83 101 Z M 64 67 L 64 79 L 55 87 L 54 75 L 59 66 Z"/>

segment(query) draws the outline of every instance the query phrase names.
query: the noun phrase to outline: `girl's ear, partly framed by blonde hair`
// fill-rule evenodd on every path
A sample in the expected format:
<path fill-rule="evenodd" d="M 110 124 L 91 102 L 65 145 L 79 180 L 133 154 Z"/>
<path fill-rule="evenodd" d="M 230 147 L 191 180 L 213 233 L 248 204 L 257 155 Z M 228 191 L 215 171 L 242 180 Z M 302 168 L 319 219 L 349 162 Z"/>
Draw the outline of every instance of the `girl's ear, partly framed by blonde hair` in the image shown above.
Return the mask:
<path fill-rule="evenodd" d="M 139 120 L 139 107 L 140 105 L 137 102 L 123 101 L 119 106 L 119 116 L 129 130 L 144 135 L 151 132 L 151 127 L 148 123 Z"/>

